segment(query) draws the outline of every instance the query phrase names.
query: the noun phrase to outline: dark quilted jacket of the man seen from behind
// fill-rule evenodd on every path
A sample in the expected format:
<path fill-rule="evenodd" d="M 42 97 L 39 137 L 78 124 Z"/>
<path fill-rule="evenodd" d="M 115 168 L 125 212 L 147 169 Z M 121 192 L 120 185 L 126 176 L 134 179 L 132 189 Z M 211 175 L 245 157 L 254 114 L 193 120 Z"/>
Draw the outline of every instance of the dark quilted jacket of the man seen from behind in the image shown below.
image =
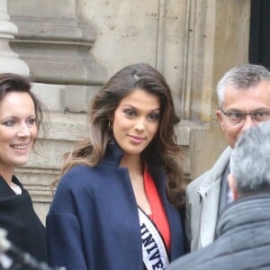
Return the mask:
<path fill-rule="evenodd" d="M 232 202 L 218 221 L 218 238 L 167 270 L 270 269 L 270 193 Z"/>

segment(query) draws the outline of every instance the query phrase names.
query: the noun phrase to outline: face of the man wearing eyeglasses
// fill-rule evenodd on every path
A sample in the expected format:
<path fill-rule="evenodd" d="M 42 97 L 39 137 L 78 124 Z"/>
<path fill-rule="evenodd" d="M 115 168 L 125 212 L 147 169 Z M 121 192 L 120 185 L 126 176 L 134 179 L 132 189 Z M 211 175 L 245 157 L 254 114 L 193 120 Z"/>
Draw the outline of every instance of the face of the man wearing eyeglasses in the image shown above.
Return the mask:
<path fill-rule="evenodd" d="M 225 99 L 222 104 L 223 112 L 263 112 L 270 110 L 270 82 L 262 81 L 256 86 L 247 89 L 236 89 L 228 86 L 225 91 Z M 225 131 L 226 139 L 231 148 L 241 135 L 241 133 L 257 124 L 253 121 L 249 114 L 246 119 L 238 123 L 229 121 L 221 110 L 216 111 L 216 115 L 220 121 L 221 129 Z"/>

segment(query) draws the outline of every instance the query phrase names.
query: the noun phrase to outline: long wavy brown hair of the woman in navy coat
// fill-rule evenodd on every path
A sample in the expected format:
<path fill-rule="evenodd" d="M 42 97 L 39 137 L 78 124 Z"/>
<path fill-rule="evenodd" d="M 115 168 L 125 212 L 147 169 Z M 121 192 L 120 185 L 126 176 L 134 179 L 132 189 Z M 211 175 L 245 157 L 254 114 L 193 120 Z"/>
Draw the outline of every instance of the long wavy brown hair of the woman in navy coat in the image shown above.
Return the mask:
<path fill-rule="evenodd" d="M 113 139 L 109 120 L 121 100 L 136 88 L 157 95 L 161 105 L 157 136 L 144 149 L 141 157 L 148 166 L 153 159 L 161 161 L 160 165 L 166 171 L 167 197 L 176 206 L 182 205 L 182 155 L 175 136 L 175 125 L 180 119 L 175 114 L 171 90 L 165 77 L 157 69 L 144 63 L 123 67 L 94 96 L 88 114 L 88 137 L 79 141 L 65 155 L 61 175 L 77 164 L 96 166 L 100 163 L 107 144 Z"/>

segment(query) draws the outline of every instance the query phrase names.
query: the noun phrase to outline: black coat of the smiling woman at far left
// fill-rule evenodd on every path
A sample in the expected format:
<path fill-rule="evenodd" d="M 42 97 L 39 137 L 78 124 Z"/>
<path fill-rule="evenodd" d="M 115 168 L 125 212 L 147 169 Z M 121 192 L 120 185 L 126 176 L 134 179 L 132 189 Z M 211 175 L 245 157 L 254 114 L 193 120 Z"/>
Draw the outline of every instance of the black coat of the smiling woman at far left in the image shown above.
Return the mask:
<path fill-rule="evenodd" d="M 31 197 L 13 176 L 23 193 L 16 195 L 0 175 L 0 228 L 7 230 L 7 238 L 23 252 L 38 261 L 47 261 L 46 232 L 32 207 Z"/>

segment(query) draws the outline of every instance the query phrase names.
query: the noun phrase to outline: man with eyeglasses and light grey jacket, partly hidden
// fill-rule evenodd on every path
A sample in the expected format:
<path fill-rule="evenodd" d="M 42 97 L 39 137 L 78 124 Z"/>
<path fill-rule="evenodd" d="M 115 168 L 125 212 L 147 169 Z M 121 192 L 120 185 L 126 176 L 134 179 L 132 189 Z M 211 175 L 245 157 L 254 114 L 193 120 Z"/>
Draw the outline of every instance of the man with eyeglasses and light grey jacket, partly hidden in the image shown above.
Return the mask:
<path fill-rule="evenodd" d="M 238 137 L 261 121 L 270 121 L 270 72 L 266 67 L 247 64 L 233 67 L 217 85 L 220 127 L 229 147 L 209 171 L 186 189 L 186 233 L 191 251 L 216 238 L 220 213 L 232 201 L 227 183 L 230 156 Z"/>

